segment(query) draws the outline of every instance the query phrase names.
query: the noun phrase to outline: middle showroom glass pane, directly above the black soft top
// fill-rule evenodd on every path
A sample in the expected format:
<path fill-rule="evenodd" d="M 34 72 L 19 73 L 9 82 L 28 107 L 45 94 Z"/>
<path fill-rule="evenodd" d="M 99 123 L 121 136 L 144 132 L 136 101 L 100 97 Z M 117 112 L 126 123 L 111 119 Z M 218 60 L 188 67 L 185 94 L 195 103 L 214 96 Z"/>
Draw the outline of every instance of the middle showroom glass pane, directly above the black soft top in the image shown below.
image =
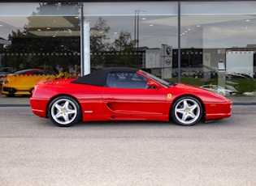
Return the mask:
<path fill-rule="evenodd" d="M 163 44 L 178 46 L 177 2 L 89 2 L 84 7 L 92 67 L 133 66 L 163 75 Z"/>

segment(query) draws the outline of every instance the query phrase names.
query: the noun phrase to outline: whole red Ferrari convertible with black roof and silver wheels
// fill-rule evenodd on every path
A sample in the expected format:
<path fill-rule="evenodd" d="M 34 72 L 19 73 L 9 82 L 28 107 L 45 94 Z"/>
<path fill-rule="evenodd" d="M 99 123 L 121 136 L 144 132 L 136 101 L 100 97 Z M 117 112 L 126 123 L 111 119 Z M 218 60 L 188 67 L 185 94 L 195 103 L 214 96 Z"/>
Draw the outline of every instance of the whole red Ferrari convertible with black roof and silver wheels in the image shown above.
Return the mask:
<path fill-rule="evenodd" d="M 30 104 L 34 114 L 58 126 L 79 120 L 173 120 L 194 125 L 229 117 L 232 109 L 232 101 L 221 95 L 128 67 L 37 82 Z"/>

